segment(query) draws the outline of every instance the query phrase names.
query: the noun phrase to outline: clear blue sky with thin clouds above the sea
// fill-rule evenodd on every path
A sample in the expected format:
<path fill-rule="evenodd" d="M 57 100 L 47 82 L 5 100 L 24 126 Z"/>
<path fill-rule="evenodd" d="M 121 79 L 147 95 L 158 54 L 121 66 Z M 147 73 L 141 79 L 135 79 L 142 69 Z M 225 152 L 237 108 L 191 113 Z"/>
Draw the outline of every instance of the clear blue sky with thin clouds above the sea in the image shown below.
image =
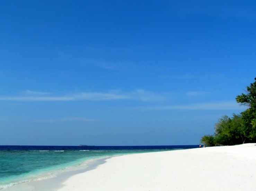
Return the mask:
<path fill-rule="evenodd" d="M 199 144 L 256 77 L 255 1 L 0 1 L 0 144 Z"/>

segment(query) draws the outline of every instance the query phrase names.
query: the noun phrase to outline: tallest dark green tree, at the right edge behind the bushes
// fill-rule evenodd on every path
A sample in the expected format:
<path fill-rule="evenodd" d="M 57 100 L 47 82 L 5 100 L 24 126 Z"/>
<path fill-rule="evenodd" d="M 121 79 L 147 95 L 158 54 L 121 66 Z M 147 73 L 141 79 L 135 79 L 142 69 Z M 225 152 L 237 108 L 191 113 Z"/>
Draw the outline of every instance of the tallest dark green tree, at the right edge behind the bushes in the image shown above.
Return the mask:
<path fill-rule="evenodd" d="M 246 88 L 246 94 L 242 93 L 236 97 L 236 101 L 247 105 L 248 109 L 242 112 L 244 134 L 250 141 L 256 140 L 256 78 Z"/>

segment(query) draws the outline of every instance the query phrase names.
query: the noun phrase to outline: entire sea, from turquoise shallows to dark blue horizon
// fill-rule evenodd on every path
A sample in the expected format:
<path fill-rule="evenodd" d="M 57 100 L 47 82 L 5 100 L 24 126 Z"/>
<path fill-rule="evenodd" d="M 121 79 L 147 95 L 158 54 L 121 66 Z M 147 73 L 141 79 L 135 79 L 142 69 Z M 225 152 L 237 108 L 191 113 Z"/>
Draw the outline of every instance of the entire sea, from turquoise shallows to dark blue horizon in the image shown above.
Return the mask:
<path fill-rule="evenodd" d="M 0 190 L 86 168 L 88 162 L 116 155 L 197 148 L 175 146 L 0 146 Z"/>

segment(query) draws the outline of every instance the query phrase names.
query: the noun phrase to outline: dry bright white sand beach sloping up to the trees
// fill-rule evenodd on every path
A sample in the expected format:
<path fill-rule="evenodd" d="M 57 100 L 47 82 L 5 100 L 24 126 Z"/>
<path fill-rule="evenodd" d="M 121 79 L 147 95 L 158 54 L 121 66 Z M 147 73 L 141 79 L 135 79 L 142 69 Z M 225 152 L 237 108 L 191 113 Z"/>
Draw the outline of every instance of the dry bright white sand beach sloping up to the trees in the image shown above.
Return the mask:
<path fill-rule="evenodd" d="M 131 154 L 73 175 L 58 191 L 253 191 L 256 143 Z"/>

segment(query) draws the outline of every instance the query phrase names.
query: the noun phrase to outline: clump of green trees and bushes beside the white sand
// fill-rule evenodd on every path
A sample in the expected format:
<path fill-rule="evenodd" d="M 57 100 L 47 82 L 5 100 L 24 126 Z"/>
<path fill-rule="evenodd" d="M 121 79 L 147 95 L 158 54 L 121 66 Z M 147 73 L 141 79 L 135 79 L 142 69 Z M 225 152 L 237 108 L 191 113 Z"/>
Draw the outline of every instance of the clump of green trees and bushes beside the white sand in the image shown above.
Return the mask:
<path fill-rule="evenodd" d="M 256 142 L 256 78 L 247 87 L 246 93 L 236 97 L 236 101 L 247 105 L 248 109 L 230 118 L 224 115 L 215 124 L 214 135 L 204 135 L 201 143 L 215 145 L 235 145 Z"/>

